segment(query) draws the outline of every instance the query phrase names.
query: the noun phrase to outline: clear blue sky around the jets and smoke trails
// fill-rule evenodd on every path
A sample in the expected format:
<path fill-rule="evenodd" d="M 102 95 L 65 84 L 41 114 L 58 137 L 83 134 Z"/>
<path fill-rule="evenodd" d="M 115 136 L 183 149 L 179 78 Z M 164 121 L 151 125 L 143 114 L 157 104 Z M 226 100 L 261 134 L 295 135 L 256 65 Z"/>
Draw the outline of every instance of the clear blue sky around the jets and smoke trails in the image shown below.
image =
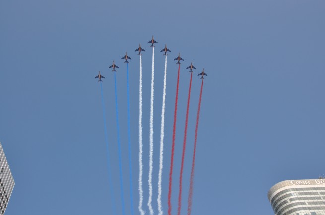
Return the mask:
<path fill-rule="evenodd" d="M 324 0 L 0 0 L 0 140 L 16 185 L 6 215 L 108 215 L 109 196 L 101 71 L 117 209 L 119 169 L 114 76 L 117 73 L 126 211 L 128 51 L 134 210 L 138 214 L 138 84 L 143 54 L 143 189 L 148 214 L 151 36 L 155 49 L 153 209 L 157 214 L 164 56 L 167 97 L 163 210 L 167 214 L 177 65 L 179 111 L 173 214 L 191 61 L 193 79 L 183 176 L 186 213 L 195 118 L 205 68 L 198 129 L 193 215 L 273 215 L 267 199 L 282 180 L 324 175 Z"/>

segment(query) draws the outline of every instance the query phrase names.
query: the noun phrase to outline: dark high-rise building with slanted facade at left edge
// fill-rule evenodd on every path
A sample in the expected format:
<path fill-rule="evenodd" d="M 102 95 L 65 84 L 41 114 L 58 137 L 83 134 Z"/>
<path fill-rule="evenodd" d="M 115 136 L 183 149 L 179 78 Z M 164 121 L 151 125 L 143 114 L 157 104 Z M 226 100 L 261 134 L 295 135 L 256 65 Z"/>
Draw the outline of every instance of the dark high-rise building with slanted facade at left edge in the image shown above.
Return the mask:
<path fill-rule="evenodd" d="M 4 214 L 8 206 L 14 185 L 15 182 L 0 142 L 0 215 Z"/>

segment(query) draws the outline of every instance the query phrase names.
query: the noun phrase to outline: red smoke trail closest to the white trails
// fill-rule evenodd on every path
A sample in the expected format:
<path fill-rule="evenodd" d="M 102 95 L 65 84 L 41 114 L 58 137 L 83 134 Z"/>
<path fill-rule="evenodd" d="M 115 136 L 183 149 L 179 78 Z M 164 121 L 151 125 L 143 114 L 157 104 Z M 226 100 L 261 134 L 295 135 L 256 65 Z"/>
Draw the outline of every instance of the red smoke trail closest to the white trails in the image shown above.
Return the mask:
<path fill-rule="evenodd" d="M 175 110 L 174 110 L 174 124 L 173 124 L 173 142 L 172 142 L 172 155 L 170 159 L 169 170 L 169 186 L 168 186 L 168 215 L 171 215 L 172 204 L 172 175 L 173 175 L 173 163 L 174 163 L 174 149 L 175 149 L 175 132 L 176 132 L 176 115 L 177 115 L 177 100 L 178 100 L 178 83 L 180 80 L 180 64 L 178 64 L 177 85 L 176 85 L 176 97 L 175 97 Z"/>

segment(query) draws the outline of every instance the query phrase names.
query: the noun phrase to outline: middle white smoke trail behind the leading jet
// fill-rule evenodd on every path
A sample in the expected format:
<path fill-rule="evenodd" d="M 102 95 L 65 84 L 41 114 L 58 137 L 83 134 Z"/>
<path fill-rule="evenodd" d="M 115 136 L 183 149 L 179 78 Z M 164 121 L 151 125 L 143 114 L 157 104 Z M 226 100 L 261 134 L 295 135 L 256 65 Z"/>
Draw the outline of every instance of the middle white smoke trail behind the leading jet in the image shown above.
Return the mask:
<path fill-rule="evenodd" d="M 148 207 L 150 211 L 150 215 L 153 215 L 152 209 L 152 163 L 153 163 L 153 84 L 154 84 L 154 63 L 155 63 L 155 48 L 152 46 L 152 66 L 151 66 L 151 99 L 150 99 L 150 138 L 149 138 L 149 200 Z"/>

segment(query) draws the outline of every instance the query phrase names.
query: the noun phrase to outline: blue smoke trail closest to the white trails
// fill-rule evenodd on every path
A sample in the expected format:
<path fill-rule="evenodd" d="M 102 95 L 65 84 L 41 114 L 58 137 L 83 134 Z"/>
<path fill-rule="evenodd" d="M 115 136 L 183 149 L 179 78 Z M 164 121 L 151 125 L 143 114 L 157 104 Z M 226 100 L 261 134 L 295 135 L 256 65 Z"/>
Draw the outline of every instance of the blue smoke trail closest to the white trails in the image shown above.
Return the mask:
<path fill-rule="evenodd" d="M 128 95 L 128 149 L 129 149 L 129 172 L 130 172 L 130 198 L 131 198 L 131 215 L 133 210 L 133 184 L 132 184 L 132 159 L 131 159 L 131 132 L 130 132 L 130 93 L 129 93 L 129 63 L 127 63 L 127 95 Z"/>

